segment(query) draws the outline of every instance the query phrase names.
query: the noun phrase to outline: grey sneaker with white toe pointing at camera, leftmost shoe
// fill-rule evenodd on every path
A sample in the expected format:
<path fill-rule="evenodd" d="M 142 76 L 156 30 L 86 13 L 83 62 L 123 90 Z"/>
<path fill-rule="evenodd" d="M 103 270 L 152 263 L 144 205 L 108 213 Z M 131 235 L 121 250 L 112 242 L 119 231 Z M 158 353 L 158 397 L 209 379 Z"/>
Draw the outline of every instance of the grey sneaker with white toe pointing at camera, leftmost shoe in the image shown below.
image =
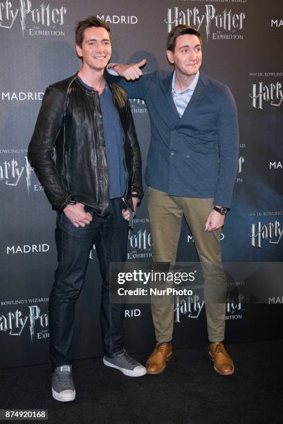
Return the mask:
<path fill-rule="evenodd" d="M 52 396 L 60 402 L 69 402 L 75 399 L 75 385 L 73 382 L 72 366 L 57 366 L 52 376 Z"/>

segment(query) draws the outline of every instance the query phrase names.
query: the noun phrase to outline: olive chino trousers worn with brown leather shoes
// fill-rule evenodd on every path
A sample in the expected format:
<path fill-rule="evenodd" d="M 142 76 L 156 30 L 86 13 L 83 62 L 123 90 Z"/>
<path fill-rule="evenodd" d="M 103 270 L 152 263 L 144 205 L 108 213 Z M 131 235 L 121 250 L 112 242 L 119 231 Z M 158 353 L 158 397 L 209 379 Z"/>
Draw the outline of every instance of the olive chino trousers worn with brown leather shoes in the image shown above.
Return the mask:
<path fill-rule="evenodd" d="M 221 265 L 221 229 L 205 231 L 212 209 L 212 198 L 176 197 L 148 188 L 149 225 L 156 263 L 174 265 L 183 215 L 190 227 L 203 271 L 208 339 L 214 343 L 224 339 L 227 283 Z M 215 293 L 217 299 L 221 293 L 221 301 L 214 303 Z M 163 303 L 152 299 L 152 319 L 156 342 L 170 342 L 174 326 L 174 299 Z"/>

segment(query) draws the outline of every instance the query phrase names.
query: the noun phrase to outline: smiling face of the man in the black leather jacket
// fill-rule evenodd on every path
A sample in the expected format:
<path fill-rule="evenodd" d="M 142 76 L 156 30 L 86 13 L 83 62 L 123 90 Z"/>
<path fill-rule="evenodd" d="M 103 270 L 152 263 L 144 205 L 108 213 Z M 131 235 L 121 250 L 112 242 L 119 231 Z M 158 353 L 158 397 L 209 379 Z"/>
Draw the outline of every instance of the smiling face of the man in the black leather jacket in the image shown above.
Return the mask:
<path fill-rule="evenodd" d="M 94 71 L 104 69 L 112 53 L 111 39 L 105 28 L 92 26 L 84 30 L 82 46 L 76 44 L 77 55 L 82 58 L 82 66 Z"/>

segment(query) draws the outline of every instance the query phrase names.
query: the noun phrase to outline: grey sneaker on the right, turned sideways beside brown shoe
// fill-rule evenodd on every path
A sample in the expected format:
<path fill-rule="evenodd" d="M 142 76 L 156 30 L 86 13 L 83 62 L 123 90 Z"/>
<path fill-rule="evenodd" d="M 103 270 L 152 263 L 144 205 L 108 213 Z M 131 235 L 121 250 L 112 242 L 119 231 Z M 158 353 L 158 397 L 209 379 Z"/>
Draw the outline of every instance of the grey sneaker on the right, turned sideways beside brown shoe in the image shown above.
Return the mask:
<path fill-rule="evenodd" d="M 113 357 L 103 357 L 104 365 L 111 366 L 112 368 L 120 369 L 125 376 L 141 377 L 147 373 L 145 366 L 134 360 L 127 352 L 118 353 Z"/>

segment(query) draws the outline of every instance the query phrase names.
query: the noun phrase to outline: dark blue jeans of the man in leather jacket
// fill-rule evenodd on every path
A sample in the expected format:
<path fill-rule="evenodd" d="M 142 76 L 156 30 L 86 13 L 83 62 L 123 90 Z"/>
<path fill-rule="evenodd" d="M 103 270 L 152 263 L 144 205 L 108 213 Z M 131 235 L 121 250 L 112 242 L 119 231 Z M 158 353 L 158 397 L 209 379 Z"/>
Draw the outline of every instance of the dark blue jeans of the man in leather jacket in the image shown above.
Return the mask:
<path fill-rule="evenodd" d="M 49 299 L 50 355 L 53 366 L 71 364 L 75 303 L 84 284 L 89 253 L 93 244 L 100 262 L 102 298 L 100 326 L 104 354 L 113 356 L 122 351 L 125 305 L 110 302 L 109 263 L 125 262 L 129 224 L 122 218 L 127 206 L 121 198 L 110 201 L 105 218 L 85 206 L 93 220 L 76 228 L 64 212 L 57 212 L 55 240 L 58 267 Z"/>

